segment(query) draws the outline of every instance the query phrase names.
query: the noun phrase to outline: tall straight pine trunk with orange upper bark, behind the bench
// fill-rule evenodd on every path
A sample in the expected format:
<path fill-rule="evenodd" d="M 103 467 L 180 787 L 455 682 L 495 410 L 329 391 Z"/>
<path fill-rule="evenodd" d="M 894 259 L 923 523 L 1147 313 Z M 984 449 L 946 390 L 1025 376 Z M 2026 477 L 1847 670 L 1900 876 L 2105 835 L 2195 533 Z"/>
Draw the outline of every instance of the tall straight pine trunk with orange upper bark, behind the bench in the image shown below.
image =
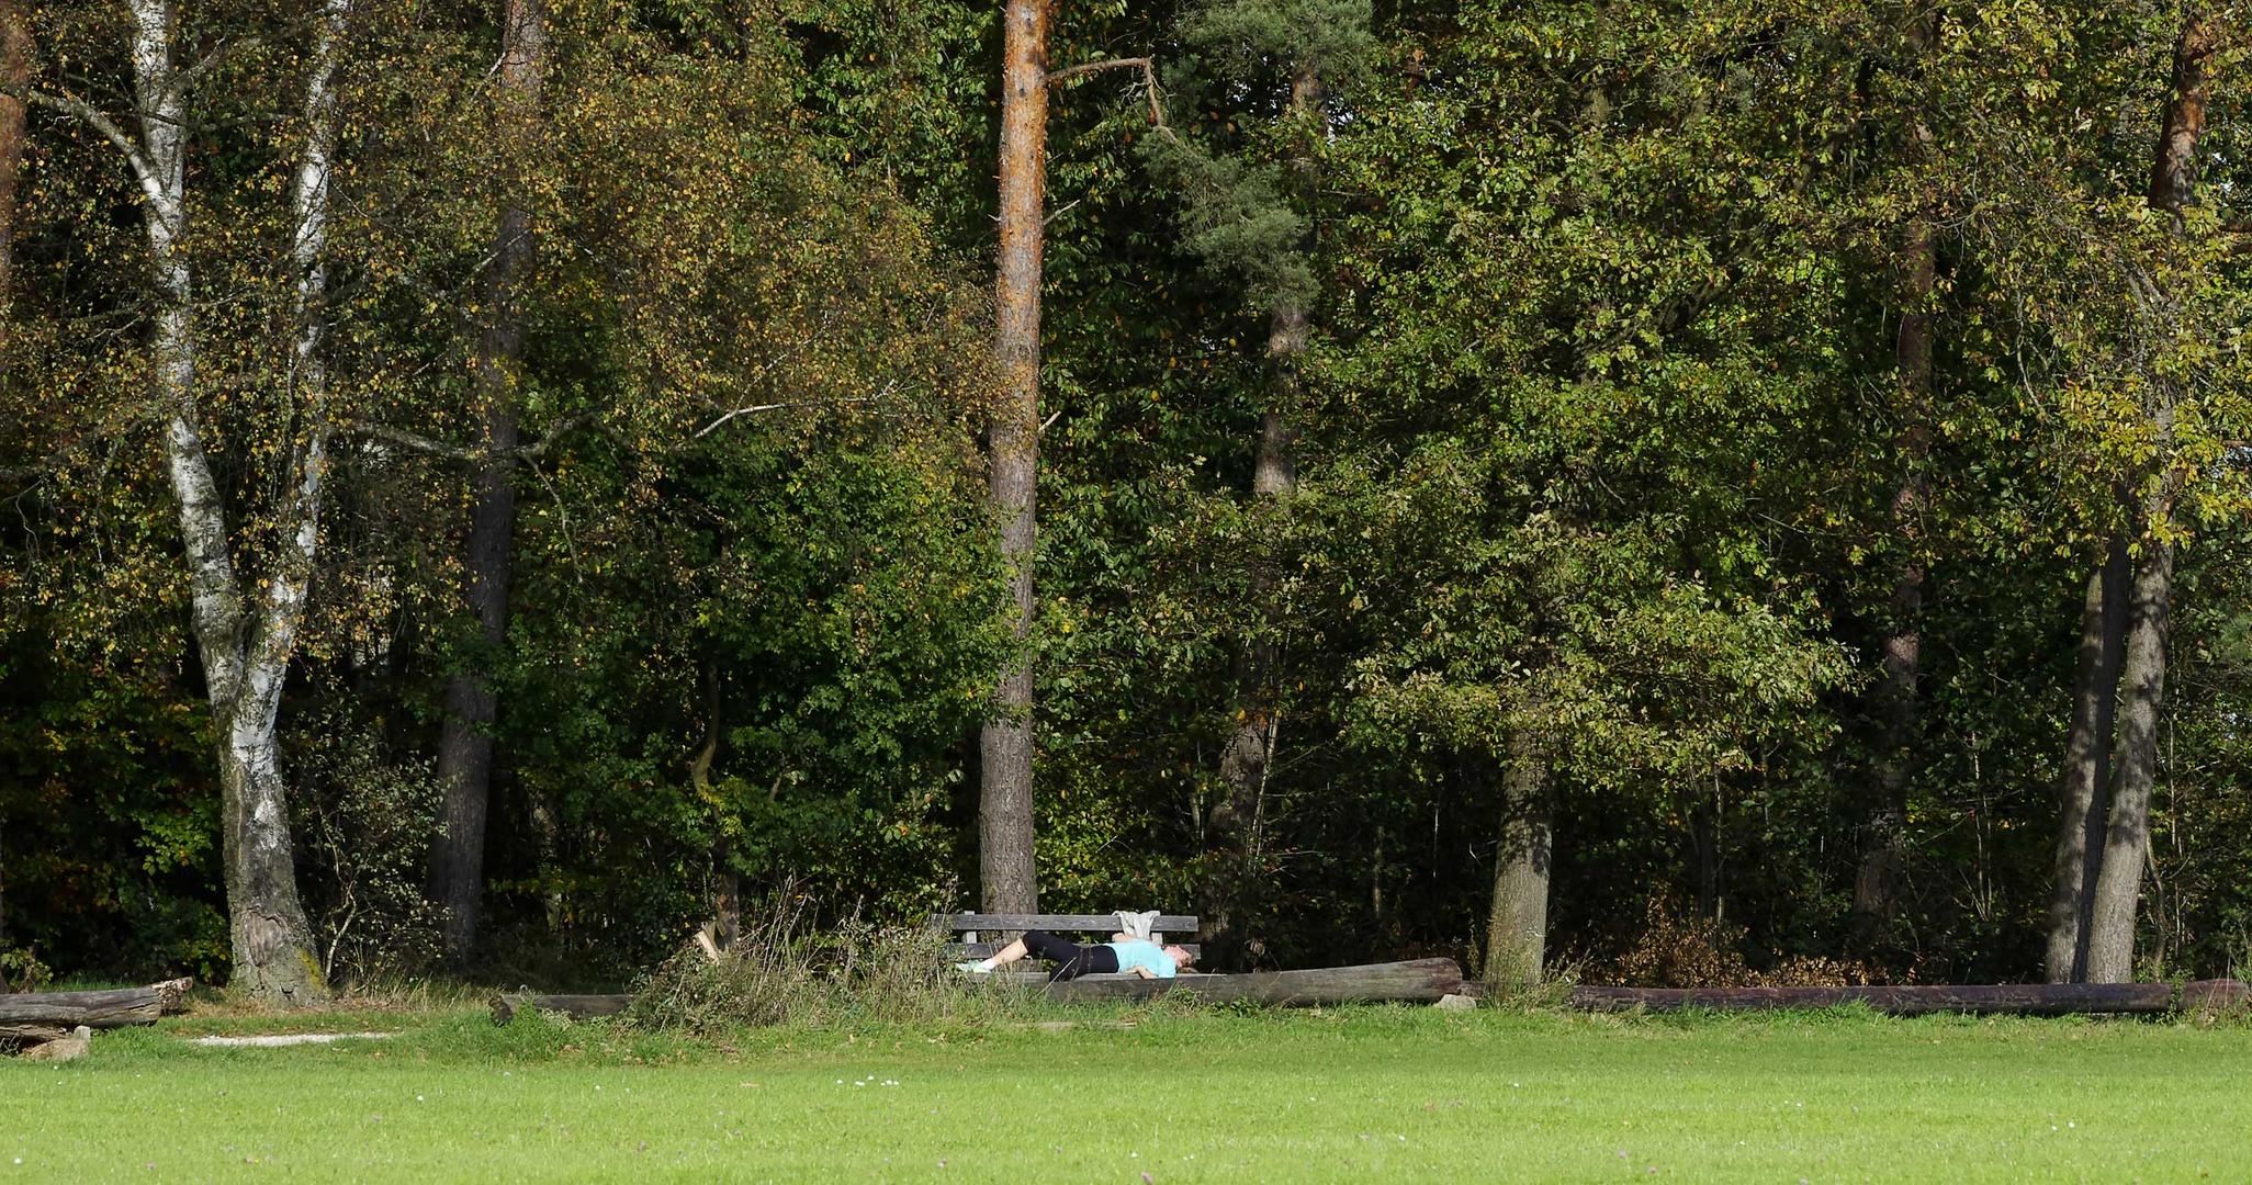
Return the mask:
<path fill-rule="evenodd" d="M 1000 252 L 989 482 L 1016 608 L 1016 649 L 980 739 L 977 872 L 991 912 L 1036 912 L 1031 867 L 1031 568 L 1040 469 L 1040 219 L 1047 173 L 1047 0 L 1002 9 Z"/>

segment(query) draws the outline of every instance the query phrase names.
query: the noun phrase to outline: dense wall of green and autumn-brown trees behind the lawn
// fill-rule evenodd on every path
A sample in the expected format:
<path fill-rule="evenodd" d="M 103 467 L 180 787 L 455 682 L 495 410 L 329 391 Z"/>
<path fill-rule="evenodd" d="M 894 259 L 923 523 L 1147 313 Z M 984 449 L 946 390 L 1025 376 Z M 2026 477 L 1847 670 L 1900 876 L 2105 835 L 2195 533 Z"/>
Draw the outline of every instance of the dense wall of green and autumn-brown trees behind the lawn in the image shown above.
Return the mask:
<path fill-rule="evenodd" d="M 0 975 L 2252 964 L 2241 0 L 0 0 Z"/>

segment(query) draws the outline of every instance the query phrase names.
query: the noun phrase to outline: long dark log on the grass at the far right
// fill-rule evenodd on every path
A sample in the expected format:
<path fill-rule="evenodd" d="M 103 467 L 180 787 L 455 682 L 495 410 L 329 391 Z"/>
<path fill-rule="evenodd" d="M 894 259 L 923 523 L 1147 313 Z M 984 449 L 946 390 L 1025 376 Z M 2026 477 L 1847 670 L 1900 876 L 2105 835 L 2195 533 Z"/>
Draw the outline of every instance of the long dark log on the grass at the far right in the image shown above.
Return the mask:
<path fill-rule="evenodd" d="M 2198 980 L 2175 998 L 2173 984 L 1889 984 L 1889 987 L 1574 987 L 1572 1007 L 1716 1012 L 1838 1007 L 1865 1003 L 1894 1016 L 1930 1012 L 2072 1016 L 2155 1014 L 2180 1007 L 2223 1009 L 2245 1000 L 2236 980 Z"/>

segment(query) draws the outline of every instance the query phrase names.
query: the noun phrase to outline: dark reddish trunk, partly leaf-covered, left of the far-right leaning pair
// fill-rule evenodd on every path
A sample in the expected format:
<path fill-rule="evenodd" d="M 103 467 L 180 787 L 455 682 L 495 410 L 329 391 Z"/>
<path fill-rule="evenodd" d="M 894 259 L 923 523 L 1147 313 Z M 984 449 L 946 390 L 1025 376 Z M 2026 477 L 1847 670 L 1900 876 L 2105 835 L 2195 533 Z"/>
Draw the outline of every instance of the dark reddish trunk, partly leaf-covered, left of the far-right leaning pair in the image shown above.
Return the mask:
<path fill-rule="evenodd" d="M 1928 20 L 1914 20 L 1907 43 L 1921 54 L 1932 41 Z M 1923 119 L 1910 128 L 1912 153 L 1928 164 L 1932 131 Z M 1894 338 L 1898 383 L 1901 482 L 1892 493 L 1892 534 L 1901 563 L 1892 583 L 1889 626 L 1883 642 L 1883 678 L 1876 685 L 1876 761 L 1869 816 L 1862 825 L 1860 870 L 1853 876 L 1853 946 L 1878 944 L 1901 894 L 1901 861 L 1907 840 L 1907 793 L 1916 755 L 1916 674 L 1923 662 L 1923 514 L 1930 509 L 1930 403 L 1932 403 L 1932 288 L 1937 248 L 1932 221 L 1916 212 L 1901 230 L 1898 257 L 1901 329 Z"/>

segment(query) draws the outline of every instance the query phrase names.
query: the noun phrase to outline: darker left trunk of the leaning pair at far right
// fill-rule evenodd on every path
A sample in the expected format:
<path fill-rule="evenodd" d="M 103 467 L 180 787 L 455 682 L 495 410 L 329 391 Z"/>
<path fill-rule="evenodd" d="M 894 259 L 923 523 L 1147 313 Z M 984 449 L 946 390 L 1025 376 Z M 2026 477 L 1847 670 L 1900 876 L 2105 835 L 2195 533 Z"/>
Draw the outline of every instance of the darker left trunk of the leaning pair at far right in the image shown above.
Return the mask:
<path fill-rule="evenodd" d="M 2088 908 L 2103 867 L 2110 813 L 2112 705 L 2126 647 L 2128 556 L 2112 543 L 2088 574 L 2081 608 L 2081 656 L 2072 671 L 2072 732 L 2058 793 L 2054 885 L 2049 890 L 2049 982 L 2088 978 Z"/>

